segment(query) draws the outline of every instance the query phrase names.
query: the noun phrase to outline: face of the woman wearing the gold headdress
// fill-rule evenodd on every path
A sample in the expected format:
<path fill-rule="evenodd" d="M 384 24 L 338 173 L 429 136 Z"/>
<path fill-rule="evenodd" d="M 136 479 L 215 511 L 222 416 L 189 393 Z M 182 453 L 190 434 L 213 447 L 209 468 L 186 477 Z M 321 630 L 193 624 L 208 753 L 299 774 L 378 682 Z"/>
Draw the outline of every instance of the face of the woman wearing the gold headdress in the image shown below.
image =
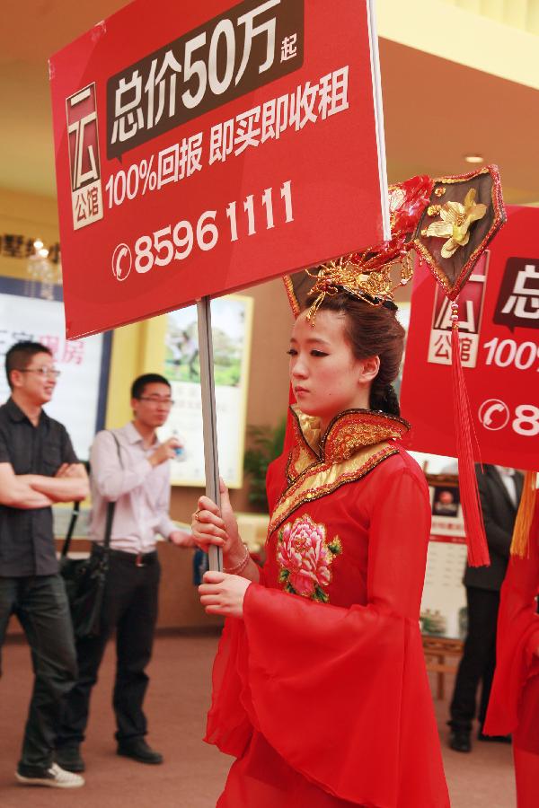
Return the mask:
<path fill-rule="evenodd" d="M 368 408 L 369 391 L 379 367 L 377 356 L 352 354 L 345 338 L 345 316 L 321 309 L 314 326 L 300 314 L 290 338 L 290 382 L 306 415 L 318 416 L 323 429 L 343 409 Z"/>

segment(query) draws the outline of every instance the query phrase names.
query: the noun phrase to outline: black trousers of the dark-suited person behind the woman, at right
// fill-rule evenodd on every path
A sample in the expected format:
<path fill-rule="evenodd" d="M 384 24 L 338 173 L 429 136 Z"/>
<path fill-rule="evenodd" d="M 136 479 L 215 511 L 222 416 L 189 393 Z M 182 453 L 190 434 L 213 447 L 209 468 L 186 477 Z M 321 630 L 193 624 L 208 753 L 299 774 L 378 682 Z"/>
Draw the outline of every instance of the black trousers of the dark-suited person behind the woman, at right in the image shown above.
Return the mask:
<path fill-rule="evenodd" d="M 489 706 L 490 688 L 496 667 L 499 592 L 467 586 L 466 598 L 468 635 L 464 643 L 463 658 L 456 674 L 449 723 L 455 729 L 470 731 L 476 714 L 477 690 L 480 682 L 482 694 L 477 717 L 481 728 Z"/>

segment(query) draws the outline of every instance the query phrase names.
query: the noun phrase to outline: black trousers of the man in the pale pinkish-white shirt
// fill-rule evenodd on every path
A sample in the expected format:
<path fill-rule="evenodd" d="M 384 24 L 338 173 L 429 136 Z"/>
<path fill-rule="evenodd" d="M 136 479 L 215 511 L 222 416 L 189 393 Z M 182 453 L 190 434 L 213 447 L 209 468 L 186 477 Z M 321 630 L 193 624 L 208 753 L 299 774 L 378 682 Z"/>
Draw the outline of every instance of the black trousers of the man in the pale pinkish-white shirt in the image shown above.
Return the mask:
<path fill-rule="evenodd" d="M 79 678 L 65 700 L 57 746 L 84 741 L 90 696 L 110 634 L 116 630 L 116 681 L 112 705 L 119 742 L 145 735 L 142 705 L 148 686 L 146 665 L 152 656 L 161 568 L 157 553 L 137 566 L 136 556 L 112 552 L 105 586 L 99 637 L 76 642 Z"/>

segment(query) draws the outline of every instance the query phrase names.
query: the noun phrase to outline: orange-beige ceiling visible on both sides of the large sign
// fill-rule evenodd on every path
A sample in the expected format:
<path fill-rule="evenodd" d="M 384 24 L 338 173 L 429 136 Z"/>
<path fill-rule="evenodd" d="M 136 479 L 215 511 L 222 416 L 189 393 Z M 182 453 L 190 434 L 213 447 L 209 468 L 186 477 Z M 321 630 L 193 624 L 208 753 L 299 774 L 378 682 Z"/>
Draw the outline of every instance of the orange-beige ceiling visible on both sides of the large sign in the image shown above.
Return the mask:
<path fill-rule="evenodd" d="M 187 2 L 187 0 L 185 0 Z M 402 0 L 400 0 L 402 2 Z M 56 192 L 47 59 L 124 0 L 3 0 L 0 187 Z M 539 92 L 380 40 L 389 180 L 498 162 L 508 202 L 539 200 Z"/>

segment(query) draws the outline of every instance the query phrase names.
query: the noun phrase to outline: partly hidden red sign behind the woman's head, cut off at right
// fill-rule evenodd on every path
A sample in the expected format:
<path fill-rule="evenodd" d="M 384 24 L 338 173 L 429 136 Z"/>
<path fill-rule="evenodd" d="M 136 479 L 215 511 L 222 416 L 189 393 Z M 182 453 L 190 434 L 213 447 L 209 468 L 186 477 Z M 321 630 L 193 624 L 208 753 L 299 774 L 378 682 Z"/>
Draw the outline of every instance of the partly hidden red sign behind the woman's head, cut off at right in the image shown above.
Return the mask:
<path fill-rule="evenodd" d="M 508 207 L 508 223 L 459 294 L 460 350 L 481 460 L 539 466 L 539 210 Z M 416 268 L 402 376 L 411 448 L 455 456 L 450 303 Z M 480 458 L 476 458 L 477 461 Z"/>

